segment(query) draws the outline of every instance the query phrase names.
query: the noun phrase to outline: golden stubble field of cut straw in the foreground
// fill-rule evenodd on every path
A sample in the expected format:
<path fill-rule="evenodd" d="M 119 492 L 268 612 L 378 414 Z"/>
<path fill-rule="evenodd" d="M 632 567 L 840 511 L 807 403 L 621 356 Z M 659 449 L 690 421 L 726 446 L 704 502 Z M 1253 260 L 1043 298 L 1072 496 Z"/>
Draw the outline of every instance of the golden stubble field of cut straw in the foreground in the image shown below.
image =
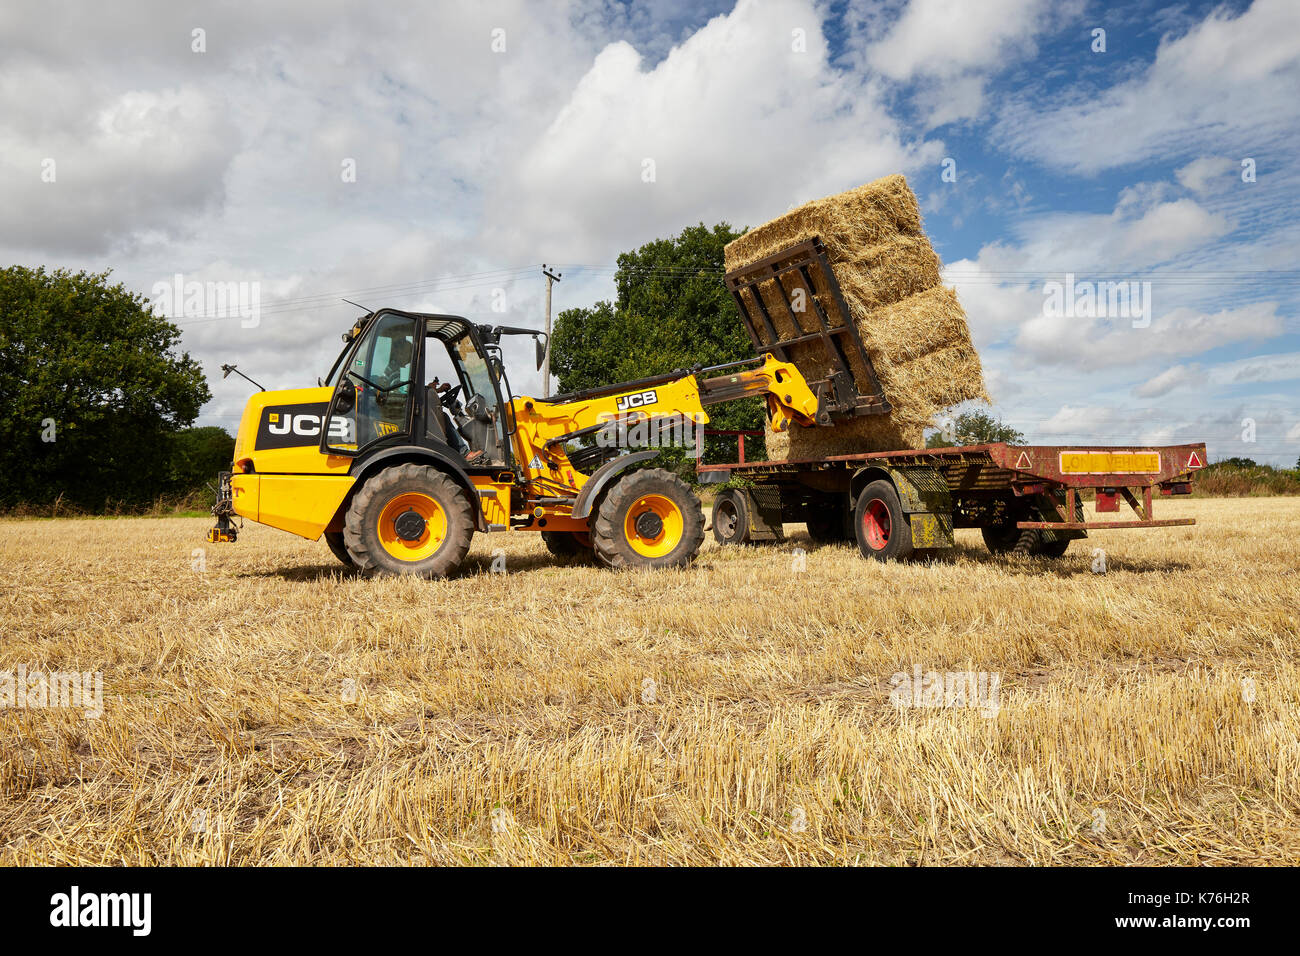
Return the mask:
<path fill-rule="evenodd" d="M 476 536 L 447 581 L 4 520 L 0 674 L 100 670 L 104 715 L 0 711 L 0 864 L 1295 861 L 1300 499 L 1157 510 L 1199 524 L 660 574 Z M 914 666 L 998 674 L 996 717 L 893 706 Z"/>

